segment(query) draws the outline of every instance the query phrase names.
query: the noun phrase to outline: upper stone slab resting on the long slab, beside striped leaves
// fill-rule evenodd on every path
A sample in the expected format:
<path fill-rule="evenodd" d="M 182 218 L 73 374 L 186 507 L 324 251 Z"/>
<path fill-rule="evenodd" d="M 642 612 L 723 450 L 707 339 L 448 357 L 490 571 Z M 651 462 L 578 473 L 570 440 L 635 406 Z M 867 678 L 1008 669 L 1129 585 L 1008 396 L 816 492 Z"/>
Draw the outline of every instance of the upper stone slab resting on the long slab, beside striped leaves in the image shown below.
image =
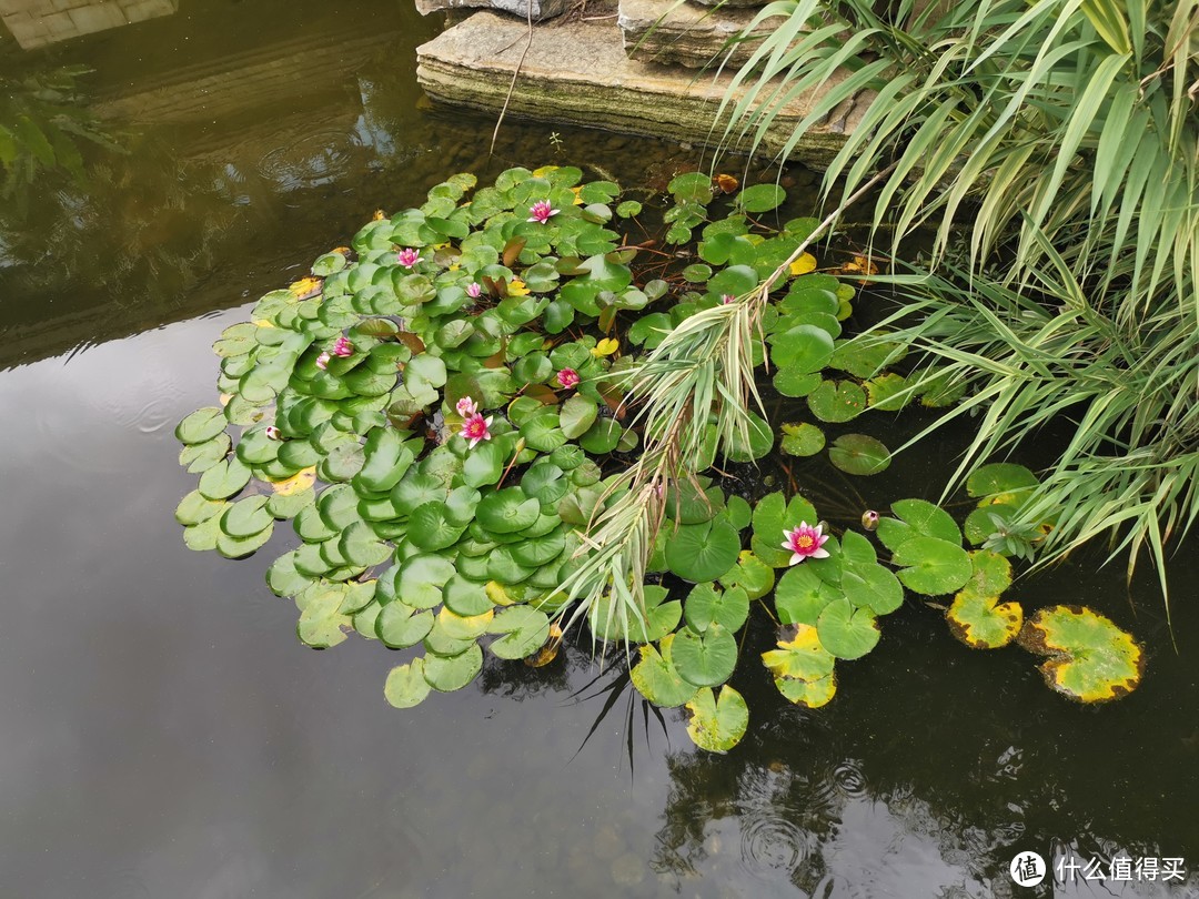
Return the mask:
<path fill-rule="evenodd" d="M 722 62 L 739 66 L 763 37 L 785 22 L 784 16 L 772 16 L 747 40 L 734 42 L 758 12 L 745 7 L 713 10 L 677 0 L 620 0 L 616 24 L 625 40 L 625 54 L 633 59 L 688 68 Z"/>

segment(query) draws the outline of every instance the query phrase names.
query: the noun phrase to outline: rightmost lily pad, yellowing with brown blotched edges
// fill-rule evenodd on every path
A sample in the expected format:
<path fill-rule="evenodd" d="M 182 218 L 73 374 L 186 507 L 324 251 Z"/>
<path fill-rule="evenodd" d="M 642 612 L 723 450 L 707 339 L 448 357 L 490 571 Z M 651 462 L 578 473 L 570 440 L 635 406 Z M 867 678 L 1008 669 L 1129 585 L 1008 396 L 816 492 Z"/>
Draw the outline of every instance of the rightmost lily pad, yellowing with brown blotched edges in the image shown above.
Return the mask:
<path fill-rule="evenodd" d="M 1137 689 L 1145 653 L 1109 619 L 1078 605 L 1042 609 L 1024 623 L 1019 644 L 1048 658 L 1046 683 L 1079 702 L 1108 702 Z"/>

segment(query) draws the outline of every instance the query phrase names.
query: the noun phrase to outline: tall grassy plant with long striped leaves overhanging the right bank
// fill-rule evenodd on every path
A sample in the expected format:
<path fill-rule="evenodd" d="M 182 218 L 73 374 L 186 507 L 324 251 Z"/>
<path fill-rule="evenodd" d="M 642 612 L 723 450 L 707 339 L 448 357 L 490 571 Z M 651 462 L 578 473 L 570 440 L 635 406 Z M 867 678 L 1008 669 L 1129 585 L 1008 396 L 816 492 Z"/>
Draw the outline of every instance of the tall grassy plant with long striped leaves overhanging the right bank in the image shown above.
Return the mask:
<path fill-rule="evenodd" d="M 1108 537 L 1129 577 L 1147 550 L 1168 597 L 1167 544 L 1199 518 L 1199 4 L 777 0 L 749 30 L 779 14 L 733 80 L 727 137 L 760 140 L 820 89 L 794 144 L 876 92 L 823 189 L 888 168 L 875 237 L 894 253 L 932 231 L 884 280 L 904 342 L 942 363 L 928 375 L 986 410 L 950 487 L 1071 410 L 1038 512 L 994 533 L 1028 547 L 1060 511 L 1041 562 Z"/>

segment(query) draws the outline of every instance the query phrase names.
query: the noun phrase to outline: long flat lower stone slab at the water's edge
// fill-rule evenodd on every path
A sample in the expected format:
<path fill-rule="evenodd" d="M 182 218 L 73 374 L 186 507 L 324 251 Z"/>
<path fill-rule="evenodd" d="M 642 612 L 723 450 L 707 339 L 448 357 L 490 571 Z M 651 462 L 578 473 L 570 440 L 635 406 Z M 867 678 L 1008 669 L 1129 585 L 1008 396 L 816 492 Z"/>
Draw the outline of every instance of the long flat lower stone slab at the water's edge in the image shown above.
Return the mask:
<path fill-rule="evenodd" d="M 525 23 L 480 12 L 416 48 L 416 78 L 434 101 L 499 113 L 524 50 Z M 846 73 L 848 74 L 848 73 Z M 507 115 L 573 123 L 697 145 L 718 141 L 715 122 L 730 73 L 695 77 L 631 60 L 614 20 L 559 22 L 534 29 Z M 819 93 L 827 90 L 821 88 Z M 819 93 L 789 103 L 759 152 L 777 155 Z M 809 128 L 791 158 L 826 165 L 861 121 L 873 95 L 858 95 Z M 715 126 L 715 127 L 713 127 Z"/>

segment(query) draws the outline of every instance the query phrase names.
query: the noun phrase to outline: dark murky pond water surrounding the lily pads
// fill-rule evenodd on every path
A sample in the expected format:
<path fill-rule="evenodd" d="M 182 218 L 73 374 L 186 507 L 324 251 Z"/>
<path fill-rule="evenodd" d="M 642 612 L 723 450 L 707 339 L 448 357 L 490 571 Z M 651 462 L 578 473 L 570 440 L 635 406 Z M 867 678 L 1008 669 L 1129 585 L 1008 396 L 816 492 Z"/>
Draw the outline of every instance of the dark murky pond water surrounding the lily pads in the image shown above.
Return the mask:
<path fill-rule="evenodd" d="M 644 185 L 699 162 L 516 122 L 489 161 L 494 122 L 415 86 L 436 28 L 406 0 L 182 0 L 49 52 L 0 38 L 4 72 L 86 64 L 97 107 L 134 122 L 86 189 L 0 213 L 0 895 L 1199 895 L 1199 874 L 1007 874 L 1029 850 L 1199 869 L 1194 542 L 1176 648 L 1151 579 L 1126 589 L 1096 556 L 1013 589 L 1145 642 L 1120 702 L 1072 705 L 1026 653 L 970 651 L 910 602 L 823 710 L 746 665 L 751 728 L 727 755 L 585 651 L 493 659 L 397 712 L 381 646 L 297 642 L 263 583 L 288 529 L 240 562 L 185 548 L 171 512 L 194 477 L 171 429 L 211 403 L 210 344 L 248 302 L 453 171 L 598 164 Z M 852 483 L 793 475 L 851 518 L 933 489 L 950 452 Z M 771 641 L 757 621 L 746 652 Z"/>

